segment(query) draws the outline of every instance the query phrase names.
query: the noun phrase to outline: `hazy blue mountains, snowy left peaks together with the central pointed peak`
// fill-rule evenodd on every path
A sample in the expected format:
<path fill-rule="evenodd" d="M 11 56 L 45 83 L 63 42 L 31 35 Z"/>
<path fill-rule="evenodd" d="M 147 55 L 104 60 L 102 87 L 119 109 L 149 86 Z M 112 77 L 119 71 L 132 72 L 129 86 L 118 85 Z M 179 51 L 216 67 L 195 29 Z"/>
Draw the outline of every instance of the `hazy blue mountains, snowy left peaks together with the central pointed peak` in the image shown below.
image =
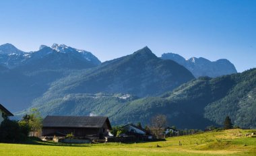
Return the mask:
<path fill-rule="evenodd" d="M 0 71 L 0 79 L 5 81 L 0 84 L 1 101 L 13 111 L 28 108 L 36 97 L 51 91 L 53 97 L 63 96 L 63 91 L 145 97 L 160 95 L 195 78 L 178 63 L 158 58 L 148 47 L 104 63 L 90 52 L 64 44 L 40 46 L 36 52 L 12 53 L 17 49 L 11 44 L 0 48 L 7 51 L 0 54 L 0 66 L 5 68 Z"/>

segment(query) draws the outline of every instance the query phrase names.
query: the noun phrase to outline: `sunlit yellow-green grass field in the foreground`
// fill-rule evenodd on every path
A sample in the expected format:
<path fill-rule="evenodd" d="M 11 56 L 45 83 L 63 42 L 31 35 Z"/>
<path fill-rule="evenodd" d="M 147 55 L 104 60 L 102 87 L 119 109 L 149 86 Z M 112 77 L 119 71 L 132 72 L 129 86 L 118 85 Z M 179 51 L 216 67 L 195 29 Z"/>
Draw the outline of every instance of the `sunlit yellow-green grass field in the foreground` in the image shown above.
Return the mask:
<path fill-rule="evenodd" d="M 256 155 L 256 138 L 241 134 L 256 130 L 204 132 L 150 143 L 63 145 L 34 141 L 0 143 L 0 155 Z M 179 141 L 182 145 L 179 146 Z M 160 147 L 157 147 L 160 146 Z"/>

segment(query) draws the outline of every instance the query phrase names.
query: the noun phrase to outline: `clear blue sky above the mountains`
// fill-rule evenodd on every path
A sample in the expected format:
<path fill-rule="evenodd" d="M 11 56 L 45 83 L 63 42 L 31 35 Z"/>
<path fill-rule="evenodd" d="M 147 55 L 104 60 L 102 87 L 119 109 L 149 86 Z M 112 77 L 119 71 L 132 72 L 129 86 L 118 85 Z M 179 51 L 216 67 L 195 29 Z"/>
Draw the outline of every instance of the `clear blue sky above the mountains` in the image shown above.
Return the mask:
<path fill-rule="evenodd" d="M 66 44 L 100 61 L 148 46 L 256 67 L 256 0 L 0 0 L 0 44 Z"/>

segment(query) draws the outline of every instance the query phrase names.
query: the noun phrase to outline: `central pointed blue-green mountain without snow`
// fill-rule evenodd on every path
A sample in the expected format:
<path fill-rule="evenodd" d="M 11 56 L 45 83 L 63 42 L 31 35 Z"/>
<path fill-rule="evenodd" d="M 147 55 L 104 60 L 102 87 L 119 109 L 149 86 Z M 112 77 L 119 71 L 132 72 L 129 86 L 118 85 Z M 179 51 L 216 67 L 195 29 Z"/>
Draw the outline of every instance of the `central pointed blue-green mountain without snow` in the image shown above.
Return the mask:
<path fill-rule="evenodd" d="M 103 92 L 145 97 L 160 95 L 191 79 L 194 77 L 185 67 L 174 61 L 164 61 L 145 47 L 128 56 L 59 79 L 44 96 L 54 99 L 68 93 Z"/>

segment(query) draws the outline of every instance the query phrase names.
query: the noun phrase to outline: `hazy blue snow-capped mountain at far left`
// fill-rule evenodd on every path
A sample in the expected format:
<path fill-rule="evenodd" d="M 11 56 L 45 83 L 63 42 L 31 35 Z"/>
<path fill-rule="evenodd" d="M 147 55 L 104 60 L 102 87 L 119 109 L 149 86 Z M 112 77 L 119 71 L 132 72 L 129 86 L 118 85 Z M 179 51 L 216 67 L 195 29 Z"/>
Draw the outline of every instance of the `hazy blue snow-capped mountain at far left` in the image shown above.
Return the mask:
<path fill-rule="evenodd" d="M 22 52 L 11 44 L 0 47 L 0 81 L 4 82 L 0 83 L 0 100 L 2 104 L 8 104 L 11 111 L 31 106 L 53 81 L 73 71 L 96 67 L 99 63 L 91 53 L 88 53 L 88 59 L 91 59 L 88 61 L 86 52 L 70 51 L 71 47 L 69 52 L 58 52 L 48 46 L 40 46 L 35 52 Z"/>

